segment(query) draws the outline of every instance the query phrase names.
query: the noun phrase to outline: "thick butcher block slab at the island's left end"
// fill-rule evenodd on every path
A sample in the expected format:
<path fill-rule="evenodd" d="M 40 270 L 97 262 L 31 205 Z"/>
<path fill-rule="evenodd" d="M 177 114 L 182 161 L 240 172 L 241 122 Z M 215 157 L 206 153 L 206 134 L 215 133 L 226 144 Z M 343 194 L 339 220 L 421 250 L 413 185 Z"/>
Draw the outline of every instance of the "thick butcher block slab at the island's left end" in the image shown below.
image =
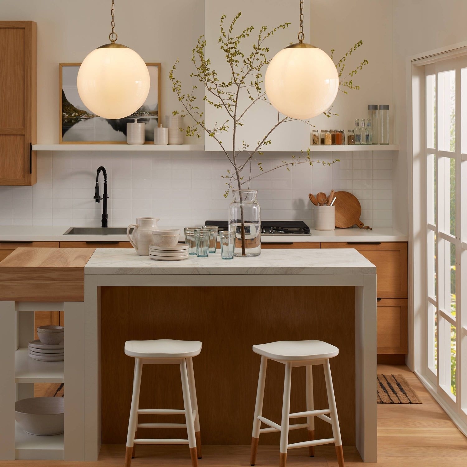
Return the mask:
<path fill-rule="evenodd" d="M 0 300 L 84 301 L 94 248 L 16 248 L 0 262 Z"/>

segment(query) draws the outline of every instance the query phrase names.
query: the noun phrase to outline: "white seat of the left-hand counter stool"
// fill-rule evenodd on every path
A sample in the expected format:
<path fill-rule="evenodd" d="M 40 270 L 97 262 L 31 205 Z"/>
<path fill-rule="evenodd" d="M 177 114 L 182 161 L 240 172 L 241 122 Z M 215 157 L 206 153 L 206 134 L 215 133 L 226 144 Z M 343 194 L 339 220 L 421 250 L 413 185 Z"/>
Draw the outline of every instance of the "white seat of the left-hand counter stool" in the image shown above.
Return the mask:
<path fill-rule="evenodd" d="M 190 358 L 201 352 L 198 340 L 127 340 L 125 354 L 136 358 Z"/>

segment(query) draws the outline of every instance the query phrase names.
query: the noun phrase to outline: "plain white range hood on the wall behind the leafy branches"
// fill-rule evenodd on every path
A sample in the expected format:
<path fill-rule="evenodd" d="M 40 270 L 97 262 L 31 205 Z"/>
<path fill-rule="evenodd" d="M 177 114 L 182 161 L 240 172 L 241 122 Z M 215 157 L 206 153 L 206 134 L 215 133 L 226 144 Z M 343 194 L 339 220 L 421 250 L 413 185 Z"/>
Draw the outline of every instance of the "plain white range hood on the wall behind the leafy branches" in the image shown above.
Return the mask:
<path fill-rule="evenodd" d="M 236 14 L 242 12 L 242 15 L 237 20 L 232 33 L 230 35 L 239 35 L 241 32 L 253 26 L 255 29 L 251 31 L 248 37 L 241 39 L 240 50 L 247 58 L 253 51 L 253 45 L 258 43 L 258 35 L 262 26 L 267 26 L 268 30 L 276 28 L 286 22 L 291 23 L 288 28 L 280 29 L 269 37 L 263 46 L 269 47 L 269 52 L 266 52 L 266 57 L 272 59 L 279 50 L 284 49 L 292 42 L 298 42 L 298 1 L 284 1 L 284 0 L 268 0 L 267 2 L 251 1 L 251 0 L 205 0 L 205 58 L 211 60 L 209 68 L 216 71 L 219 84 L 227 83 L 232 79 L 232 71 L 229 64 L 226 62 L 226 54 L 220 49 L 219 36 L 220 36 L 220 19 L 223 14 L 226 15 L 224 20 L 224 30 L 228 34 L 231 22 Z M 267 12 L 267 13 L 266 13 Z M 265 14 L 266 13 L 266 14 Z M 310 24 L 310 0 L 304 1 L 304 24 Z M 308 33 L 308 29 L 305 30 Z M 264 36 L 264 34 L 263 34 Z M 309 39 L 309 37 L 308 37 Z M 196 44 L 190 44 L 193 47 Z M 243 65 L 243 57 L 235 57 L 240 62 L 240 67 Z M 256 63 L 256 62 L 255 62 Z M 181 69 L 181 67 L 180 67 Z M 262 68 L 261 87 L 264 91 L 264 76 L 266 73 L 267 65 Z M 189 69 L 190 70 L 190 69 Z M 192 68 L 194 71 L 194 68 Z M 176 76 L 177 76 L 176 71 Z M 202 91 L 204 87 L 198 82 L 196 78 L 183 78 L 181 79 L 184 87 L 184 92 L 190 92 L 192 85 L 198 85 L 198 91 Z M 194 81 L 196 79 L 196 81 Z M 245 79 L 245 85 L 251 85 L 254 81 L 253 74 L 249 74 Z M 220 87 L 222 91 L 227 91 L 226 88 Z M 229 89 L 236 92 L 236 86 L 233 85 Z M 252 104 L 249 99 L 247 90 L 250 91 L 251 96 L 255 99 L 257 92 L 254 87 L 243 88 L 239 94 L 237 116 L 240 116 L 244 110 Z M 209 99 L 216 104 L 218 100 L 209 91 L 205 92 L 205 99 Z M 235 98 L 236 99 L 236 98 Z M 198 97 L 201 100 L 201 96 Z M 198 100 L 194 105 L 199 105 Z M 206 127 L 212 129 L 226 124 L 228 130 L 218 134 L 219 140 L 228 151 L 232 150 L 232 132 L 233 122 L 232 118 L 226 112 L 226 109 L 216 108 L 207 102 L 204 102 Z M 284 115 L 281 114 L 282 119 Z M 190 119 L 185 118 L 186 124 L 192 124 Z M 242 148 L 243 142 L 249 145 L 248 150 L 254 150 L 261 141 L 276 124 L 277 124 L 277 110 L 269 104 L 269 101 L 259 99 L 241 119 L 242 125 L 237 127 L 236 130 L 236 150 Z M 300 151 L 306 150 L 310 146 L 310 126 L 303 121 L 289 121 L 284 122 L 277 127 L 266 140 L 271 141 L 271 144 L 262 147 L 262 151 Z M 206 151 L 220 151 L 220 146 L 214 138 L 205 133 L 205 150 Z"/>

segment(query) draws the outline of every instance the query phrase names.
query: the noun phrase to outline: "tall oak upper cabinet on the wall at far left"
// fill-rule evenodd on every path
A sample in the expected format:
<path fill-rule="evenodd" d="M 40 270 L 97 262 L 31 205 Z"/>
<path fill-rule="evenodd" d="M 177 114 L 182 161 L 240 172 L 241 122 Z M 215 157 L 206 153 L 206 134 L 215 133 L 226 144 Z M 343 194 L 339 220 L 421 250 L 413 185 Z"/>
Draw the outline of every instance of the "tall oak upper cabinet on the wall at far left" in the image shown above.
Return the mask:
<path fill-rule="evenodd" d="M 36 182 L 36 23 L 0 21 L 0 185 Z"/>

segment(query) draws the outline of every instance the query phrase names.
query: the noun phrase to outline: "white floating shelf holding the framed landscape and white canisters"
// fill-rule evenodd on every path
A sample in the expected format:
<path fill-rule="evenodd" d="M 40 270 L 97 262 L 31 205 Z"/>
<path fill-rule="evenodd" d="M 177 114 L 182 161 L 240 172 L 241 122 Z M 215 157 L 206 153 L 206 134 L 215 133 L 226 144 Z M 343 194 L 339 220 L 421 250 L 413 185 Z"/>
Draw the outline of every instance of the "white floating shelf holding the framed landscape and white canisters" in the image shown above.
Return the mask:
<path fill-rule="evenodd" d="M 204 144 L 33 144 L 33 151 L 204 151 Z"/>

